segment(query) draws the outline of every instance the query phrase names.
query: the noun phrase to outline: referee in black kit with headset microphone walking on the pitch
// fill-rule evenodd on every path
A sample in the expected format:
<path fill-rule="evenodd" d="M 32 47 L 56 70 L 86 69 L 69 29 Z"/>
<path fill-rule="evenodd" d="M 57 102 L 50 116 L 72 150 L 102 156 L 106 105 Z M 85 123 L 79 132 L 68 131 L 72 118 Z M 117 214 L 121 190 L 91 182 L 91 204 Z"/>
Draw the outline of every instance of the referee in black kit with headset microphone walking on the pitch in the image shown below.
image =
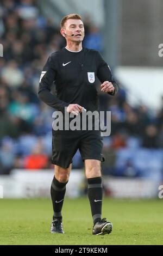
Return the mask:
<path fill-rule="evenodd" d="M 116 95 L 118 86 L 111 71 L 98 51 L 82 47 L 84 25 L 82 17 L 70 14 L 61 20 L 61 35 L 66 47 L 49 56 L 40 77 L 39 98 L 62 113 L 81 115 L 83 110 L 98 111 L 98 95 L 95 87 L 97 77 L 102 92 Z M 56 95 L 51 94 L 55 81 Z M 88 197 L 93 218 L 93 235 L 105 235 L 112 231 L 112 223 L 102 215 L 102 157 L 101 131 L 53 130 L 52 163 L 55 175 L 51 185 L 53 221 L 51 233 L 64 233 L 62 228 L 62 205 L 66 184 L 71 171 L 74 154 L 79 149 L 85 163 Z"/>

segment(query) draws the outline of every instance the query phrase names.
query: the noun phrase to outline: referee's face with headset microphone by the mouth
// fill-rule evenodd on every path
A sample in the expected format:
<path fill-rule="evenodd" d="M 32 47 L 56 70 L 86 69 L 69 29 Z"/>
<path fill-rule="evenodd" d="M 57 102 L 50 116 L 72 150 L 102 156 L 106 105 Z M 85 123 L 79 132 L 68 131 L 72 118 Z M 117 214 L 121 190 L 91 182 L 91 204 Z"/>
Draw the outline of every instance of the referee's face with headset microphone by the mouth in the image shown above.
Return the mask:
<path fill-rule="evenodd" d="M 70 39 L 71 41 L 75 42 L 82 42 L 84 39 L 84 25 L 81 20 L 74 20 L 74 19 L 69 19 L 65 22 L 64 26 L 64 32 L 67 35 L 72 35 L 74 36 L 66 36 L 66 39 Z"/>

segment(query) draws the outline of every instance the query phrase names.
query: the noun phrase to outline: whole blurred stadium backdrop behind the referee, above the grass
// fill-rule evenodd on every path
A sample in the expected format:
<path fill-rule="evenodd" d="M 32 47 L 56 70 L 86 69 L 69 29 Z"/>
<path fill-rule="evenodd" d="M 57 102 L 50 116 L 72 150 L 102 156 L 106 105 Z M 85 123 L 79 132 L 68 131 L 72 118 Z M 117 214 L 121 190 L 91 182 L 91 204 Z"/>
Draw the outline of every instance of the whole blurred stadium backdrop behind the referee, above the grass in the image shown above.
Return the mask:
<path fill-rule="evenodd" d="M 112 97 L 97 84 L 101 110 L 111 111 L 111 135 L 103 139 L 105 194 L 158 197 L 163 180 L 162 0 L 1 0 L 1 197 L 2 192 L 4 198 L 49 196 L 54 109 L 39 101 L 37 88 L 49 54 L 65 46 L 60 20 L 70 13 L 82 15 L 83 46 L 101 52 L 120 85 Z M 67 196 L 86 191 L 79 152 L 69 184 Z"/>

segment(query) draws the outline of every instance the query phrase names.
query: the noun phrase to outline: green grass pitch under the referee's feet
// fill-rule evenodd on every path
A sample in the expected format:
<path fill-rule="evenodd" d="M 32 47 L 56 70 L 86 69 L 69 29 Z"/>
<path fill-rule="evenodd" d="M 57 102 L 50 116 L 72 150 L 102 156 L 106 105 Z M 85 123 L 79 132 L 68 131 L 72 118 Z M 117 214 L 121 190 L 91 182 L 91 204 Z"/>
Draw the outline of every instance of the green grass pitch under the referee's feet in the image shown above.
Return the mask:
<path fill-rule="evenodd" d="M 0 199 L 0 245 L 162 245 L 162 200 L 105 198 L 102 217 L 114 229 L 110 235 L 93 236 L 87 198 L 65 198 L 65 234 L 49 233 L 50 199 Z"/>

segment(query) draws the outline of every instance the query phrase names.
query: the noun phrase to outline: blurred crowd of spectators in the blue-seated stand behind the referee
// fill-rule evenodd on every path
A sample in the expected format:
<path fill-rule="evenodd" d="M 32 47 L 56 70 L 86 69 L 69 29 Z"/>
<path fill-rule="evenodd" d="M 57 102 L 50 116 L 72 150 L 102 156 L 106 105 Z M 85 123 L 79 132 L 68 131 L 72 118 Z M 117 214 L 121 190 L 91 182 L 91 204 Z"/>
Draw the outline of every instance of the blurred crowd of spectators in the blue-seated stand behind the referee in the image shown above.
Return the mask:
<path fill-rule="evenodd" d="M 0 174 L 8 174 L 13 168 L 52 168 L 54 110 L 39 101 L 37 88 L 49 54 L 64 47 L 65 40 L 60 28 L 42 16 L 38 2 L 2 0 L 0 3 L 4 50 L 4 57 L 0 57 Z M 103 53 L 99 29 L 89 16 L 85 16 L 84 23 L 84 46 Z M 116 97 L 99 91 L 99 100 L 101 110 L 111 111 L 111 135 L 103 139 L 103 172 L 146 176 L 152 166 L 161 173 L 163 99 L 155 115 L 146 106 L 131 107 L 122 85 Z M 73 167 L 83 167 L 79 152 L 74 156 Z"/>

